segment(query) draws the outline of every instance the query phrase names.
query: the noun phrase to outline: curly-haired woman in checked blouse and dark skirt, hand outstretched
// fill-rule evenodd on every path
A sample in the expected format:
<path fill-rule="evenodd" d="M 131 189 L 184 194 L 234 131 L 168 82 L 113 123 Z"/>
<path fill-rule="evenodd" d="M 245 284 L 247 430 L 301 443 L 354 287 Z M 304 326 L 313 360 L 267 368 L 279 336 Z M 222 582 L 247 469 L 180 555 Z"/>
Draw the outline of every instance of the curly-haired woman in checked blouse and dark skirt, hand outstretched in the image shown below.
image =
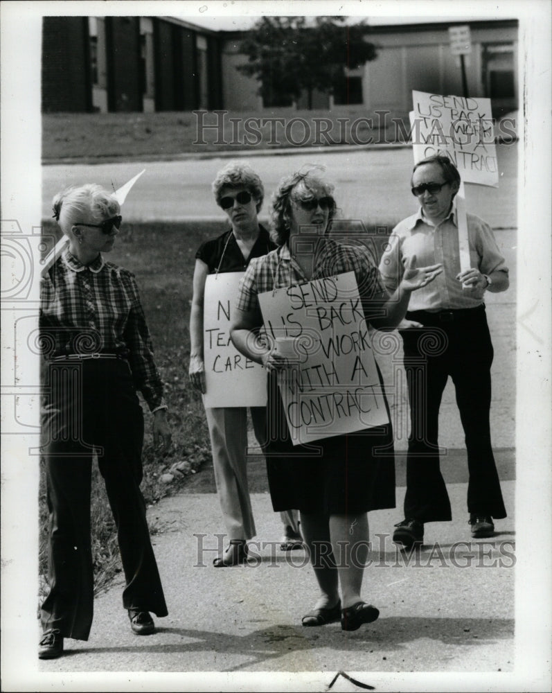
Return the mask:
<path fill-rule="evenodd" d="M 432 281 L 441 267 L 415 269 L 410 263 L 389 297 L 364 247 L 339 245 L 328 237 L 335 212 L 333 186 L 314 168 L 283 179 L 272 202 L 273 238 L 280 247 L 249 264 L 231 337 L 241 353 L 269 372 L 265 454 L 271 500 L 276 511 L 299 508 L 320 589 L 314 609 L 303 616 L 303 626 L 341 620 L 342 629 L 353 631 L 379 615 L 375 606 L 362 600 L 360 590 L 368 552 L 367 512 L 395 507 L 393 457 L 375 453 L 382 446 L 391 448 L 391 424 L 327 437 L 309 446 L 293 445 L 277 388 L 278 371 L 285 371 L 288 362 L 258 337 L 262 326 L 258 295 L 352 271 L 367 321 L 376 328 L 392 328 L 404 317 L 411 292 Z M 291 475 L 292 486 L 286 483 Z"/>

